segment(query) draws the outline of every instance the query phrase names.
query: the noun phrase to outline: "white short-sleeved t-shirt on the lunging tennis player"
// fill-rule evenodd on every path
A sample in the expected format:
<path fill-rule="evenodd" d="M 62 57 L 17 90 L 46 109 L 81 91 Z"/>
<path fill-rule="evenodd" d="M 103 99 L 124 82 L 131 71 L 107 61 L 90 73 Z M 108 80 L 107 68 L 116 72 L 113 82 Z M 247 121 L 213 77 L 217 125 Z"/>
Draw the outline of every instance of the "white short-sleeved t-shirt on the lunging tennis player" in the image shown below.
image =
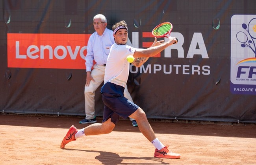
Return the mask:
<path fill-rule="evenodd" d="M 108 55 L 104 84 L 107 82 L 120 85 L 125 88 L 130 64 L 126 60 L 128 55 L 134 55 L 136 48 L 128 45 L 113 44 Z"/>

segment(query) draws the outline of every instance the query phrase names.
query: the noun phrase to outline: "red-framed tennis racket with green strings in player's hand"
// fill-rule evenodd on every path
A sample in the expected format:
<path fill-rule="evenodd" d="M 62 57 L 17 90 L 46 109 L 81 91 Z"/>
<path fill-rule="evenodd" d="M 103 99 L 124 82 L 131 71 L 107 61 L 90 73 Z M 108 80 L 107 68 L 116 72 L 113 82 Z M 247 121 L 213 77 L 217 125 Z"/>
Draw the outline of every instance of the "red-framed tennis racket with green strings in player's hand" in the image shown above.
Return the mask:
<path fill-rule="evenodd" d="M 171 34 L 171 31 L 173 29 L 173 25 L 170 22 L 163 22 L 161 24 L 159 24 L 158 26 L 156 26 L 153 30 L 152 30 L 152 35 L 154 35 L 155 37 L 169 37 Z M 178 39 L 176 38 L 177 42 Z M 173 44 L 176 44 L 176 41 L 174 41 Z"/>

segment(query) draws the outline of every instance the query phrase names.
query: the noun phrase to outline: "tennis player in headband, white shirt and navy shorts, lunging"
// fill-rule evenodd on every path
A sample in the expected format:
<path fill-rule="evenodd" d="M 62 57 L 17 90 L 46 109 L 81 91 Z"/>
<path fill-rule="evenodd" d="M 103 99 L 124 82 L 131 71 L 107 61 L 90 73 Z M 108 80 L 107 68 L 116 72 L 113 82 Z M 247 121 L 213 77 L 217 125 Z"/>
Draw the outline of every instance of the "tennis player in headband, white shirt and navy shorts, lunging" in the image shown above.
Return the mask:
<path fill-rule="evenodd" d="M 129 75 L 129 62 L 126 60 L 128 55 L 135 57 L 135 66 L 141 66 L 149 57 L 152 57 L 162 50 L 172 45 L 176 38 L 169 37 L 167 42 L 156 41 L 150 48 L 137 49 L 126 45 L 128 39 L 128 28 L 124 20 L 116 23 L 112 27 L 115 44 L 111 46 L 108 56 L 106 71 L 104 76 L 104 85 L 101 88 L 102 100 L 104 103 L 103 121 L 102 123 L 94 123 L 81 130 L 77 130 L 73 125 L 69 128 L 64 137 L 61 148 L 67 143 L 77 138 L 89 135 L 108 134 L 112 132 L 119 117 L 126 119 L 132 117 L 137 121 L 139 130 L 150 141 L 155 149 L 154 157 L 157 158 L 180 158 L 180 154 L 176 154 L 168 149 L 168 145 L 164 146 L 148 123 L 145 112 L 136 104 L 132 103 L 124 97 L 124 88 L 126 86 Z"/>

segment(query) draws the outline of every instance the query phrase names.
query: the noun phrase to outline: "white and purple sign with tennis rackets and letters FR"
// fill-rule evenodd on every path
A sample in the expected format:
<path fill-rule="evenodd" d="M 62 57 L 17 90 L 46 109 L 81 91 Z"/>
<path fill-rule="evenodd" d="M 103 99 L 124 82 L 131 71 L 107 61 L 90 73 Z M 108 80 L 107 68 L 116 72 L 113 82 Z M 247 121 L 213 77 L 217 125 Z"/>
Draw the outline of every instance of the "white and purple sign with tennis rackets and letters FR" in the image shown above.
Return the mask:
<path fill-rule="evenodd" d="M 256 95 L 256 15 L 231 18 L 230 91 Z"/>

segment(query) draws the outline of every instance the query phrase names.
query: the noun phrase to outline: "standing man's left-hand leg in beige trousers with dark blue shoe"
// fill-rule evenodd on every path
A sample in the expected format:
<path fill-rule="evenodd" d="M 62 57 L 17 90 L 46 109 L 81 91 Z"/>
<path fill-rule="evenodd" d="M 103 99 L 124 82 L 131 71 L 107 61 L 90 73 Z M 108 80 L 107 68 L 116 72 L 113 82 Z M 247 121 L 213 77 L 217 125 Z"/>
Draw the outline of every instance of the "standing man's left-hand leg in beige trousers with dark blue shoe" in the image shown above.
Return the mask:
<path fill-rule="evenodd" d="M 85 119 L 81 120 L 80 124 L 96 123 L 95 119 L 95 91 L 104 81 L 105 66 L 95 64 L 91 71 L 91 76 L 95 81 L 91 81 L 89 86 L 84 88 L 85 98 Z"/>

